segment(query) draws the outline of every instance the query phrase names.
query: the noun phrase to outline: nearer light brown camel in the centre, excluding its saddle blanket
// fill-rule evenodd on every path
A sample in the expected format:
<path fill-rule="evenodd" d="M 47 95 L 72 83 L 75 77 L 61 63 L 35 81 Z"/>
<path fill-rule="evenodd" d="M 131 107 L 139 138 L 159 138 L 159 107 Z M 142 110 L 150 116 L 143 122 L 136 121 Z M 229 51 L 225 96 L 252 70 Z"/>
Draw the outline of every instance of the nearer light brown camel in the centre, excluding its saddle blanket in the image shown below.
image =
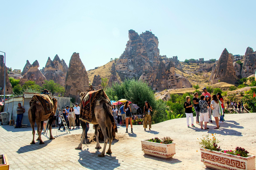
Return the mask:
<path fill-rule="evenodd" d="M 82 99 L 84 94 L 86 94 L 86 93 L 84 93 L 84 92 L 80 93 L 80 99 Z M 99 138 L 98 138 L 98 133 L 99 133 L 98 128 L 99 128 L 99 126 L 101 127 L 102 133 L 104 135 L 104 147 L 103 147 L 101 154 L 99 154 L 98 156 L 103 157 L 103 156 L 105 156 L 105 150 L 106 150 L 108 140 L 109 140 L 109 148 L 106 153 L 107 154 L 112 153 L 111 152 L 111 143 L 113 140 L 112 122 L 114 121 L 114 117 L 112 116 L 112 108 L 106 102 L 106 100 L 102 99 L 102 100 L 98 100 L 98 102 L 99 102 L 99 105 L 96 105 L 94 108 L 94 114 L 92 115 L 92 122 L 88 122 L 88 123 L 93 124 L 94 128 L 95 128 L 94 134 L 95 134 L 96 141 L 97 141 L 95 149 L 101 148 L 100 143 L 99 143 Z M 82 144 L 83 144 L 83 140 L 85 137 L 85 129 L 86 129 L 86 121 L 85 120 L 81 120 L 81 126 L 83 128 L 81 142 L 75 149 L 82 149 Z M 108 128 L 108 135 L 107 135 L 106 127 Z"/>

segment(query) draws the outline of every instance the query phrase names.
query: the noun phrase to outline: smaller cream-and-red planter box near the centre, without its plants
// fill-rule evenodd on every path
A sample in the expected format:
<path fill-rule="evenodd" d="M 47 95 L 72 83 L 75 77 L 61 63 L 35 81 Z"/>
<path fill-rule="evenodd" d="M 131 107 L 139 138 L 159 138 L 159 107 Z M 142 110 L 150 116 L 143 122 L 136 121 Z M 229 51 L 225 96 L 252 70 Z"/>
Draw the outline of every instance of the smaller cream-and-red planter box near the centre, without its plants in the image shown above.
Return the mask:
<path fill-rule="evenodd" d="M 175 154 L 175 143 L 163 144 L 148 140 L 141 140 L 141 147 L 145 154 L 166 159 Z"/>

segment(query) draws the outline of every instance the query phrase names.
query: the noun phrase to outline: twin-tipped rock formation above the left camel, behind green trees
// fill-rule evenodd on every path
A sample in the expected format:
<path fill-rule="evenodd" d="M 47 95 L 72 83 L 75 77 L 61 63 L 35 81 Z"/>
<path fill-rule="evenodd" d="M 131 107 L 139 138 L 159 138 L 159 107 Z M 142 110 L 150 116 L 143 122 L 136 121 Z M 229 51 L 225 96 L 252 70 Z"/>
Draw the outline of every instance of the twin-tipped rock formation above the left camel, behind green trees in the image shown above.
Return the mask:
<path fill-rule="evenodd" d="M 38 69 L 39 63 L 37 60 L 33 62 L 32 65 L 29 66 L 29 61 L 27 60 L 27 63 L 25 67 L 23 68 L 24 74 L 23 76 L 27 75 L 27 79 L 30 81 L 35 81 L 36 84 L 39 86 L 42 86 L 44 84 L 44 80 L 46 80 L 45 76 L 41 73 L 41 71 Z M 22 71 L 22 73 L 23 73 Z M 27 72 L 27 73 L 26 73 Z"/>

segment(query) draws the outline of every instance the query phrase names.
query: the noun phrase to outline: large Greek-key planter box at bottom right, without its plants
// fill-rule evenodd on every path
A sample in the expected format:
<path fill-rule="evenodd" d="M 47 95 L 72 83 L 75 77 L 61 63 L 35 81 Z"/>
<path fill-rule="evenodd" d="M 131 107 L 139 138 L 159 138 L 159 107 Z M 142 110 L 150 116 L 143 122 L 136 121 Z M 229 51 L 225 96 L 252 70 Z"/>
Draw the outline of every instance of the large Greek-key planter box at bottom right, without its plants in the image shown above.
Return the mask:
<path fill-rule="evenodd" d="M 200 151 L 201 161 L 208 168 L 220 170 L 255 170 L 255 156 L 253 155 L 248 155 L 245 158 L 204 148 L 200 148 Z"/>

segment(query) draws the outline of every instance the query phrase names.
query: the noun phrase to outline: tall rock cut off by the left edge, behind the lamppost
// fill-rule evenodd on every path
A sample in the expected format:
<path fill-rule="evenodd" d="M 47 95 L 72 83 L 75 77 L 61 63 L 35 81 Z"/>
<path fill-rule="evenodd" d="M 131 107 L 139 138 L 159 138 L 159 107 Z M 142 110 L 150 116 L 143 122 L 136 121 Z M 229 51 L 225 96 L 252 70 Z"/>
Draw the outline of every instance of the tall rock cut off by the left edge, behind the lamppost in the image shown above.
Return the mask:
<path fill-rule="evenodd" d="M 12 94 L 12 85 L 10 83 L 7 67 L 4 65 L 4 56 L 0 55 L 0 93 L 4 94 L 4 69 L 5 69 L 5 94 Z"/>

